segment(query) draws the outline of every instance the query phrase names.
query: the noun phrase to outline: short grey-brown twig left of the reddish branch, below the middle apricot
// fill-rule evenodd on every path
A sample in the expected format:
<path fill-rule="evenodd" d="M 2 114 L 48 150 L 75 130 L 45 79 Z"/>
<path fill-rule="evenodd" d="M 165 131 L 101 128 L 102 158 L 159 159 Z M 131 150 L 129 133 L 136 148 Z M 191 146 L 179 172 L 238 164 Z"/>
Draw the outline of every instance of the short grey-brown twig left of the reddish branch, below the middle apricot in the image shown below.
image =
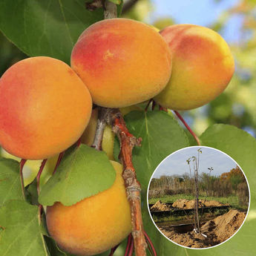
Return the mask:
<path fill-rule="evenodd" d="M 102 138 L 103 133 L 106 125 L 106 118 L 108 115 L 108 108 L 101 108 L 99 107 L 98 112 L 98 119 L 97 119 L 97 125 L 96 125 L 96 132 L 95 137 L 93 140 L 93 144 L 91 145 L 92 148 L 96 148 L 96 150 L 102 150 Z"/>

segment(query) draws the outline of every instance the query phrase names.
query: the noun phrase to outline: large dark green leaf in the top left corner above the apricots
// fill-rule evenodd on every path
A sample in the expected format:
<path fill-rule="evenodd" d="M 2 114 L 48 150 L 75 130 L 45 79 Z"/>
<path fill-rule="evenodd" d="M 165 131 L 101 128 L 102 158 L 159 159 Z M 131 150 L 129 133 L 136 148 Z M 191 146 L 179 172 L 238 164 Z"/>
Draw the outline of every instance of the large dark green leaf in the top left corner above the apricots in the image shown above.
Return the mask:
<path fill-rule="evenodd" d="M 79 35 L 103 19 L 102 8 L 86 10 L 84 0 L 2 0 L 0 30 L 28 56 L 51 56 L 70 63 Z"/>

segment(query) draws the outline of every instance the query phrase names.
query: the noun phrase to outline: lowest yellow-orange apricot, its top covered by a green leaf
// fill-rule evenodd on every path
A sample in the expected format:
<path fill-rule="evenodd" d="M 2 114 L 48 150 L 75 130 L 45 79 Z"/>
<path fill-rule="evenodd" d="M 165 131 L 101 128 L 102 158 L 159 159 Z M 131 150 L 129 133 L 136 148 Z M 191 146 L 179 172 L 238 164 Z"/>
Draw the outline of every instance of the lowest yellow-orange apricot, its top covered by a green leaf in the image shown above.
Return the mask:
<path fill-rule="evenodd" d="M 116 246 L 131 232 L 130 206 L 122 180 L 122 165 L 113 186 L 73 206 L 47 206 L 46 221 L 58 246 L 73 255 L 96 255 Z"/>

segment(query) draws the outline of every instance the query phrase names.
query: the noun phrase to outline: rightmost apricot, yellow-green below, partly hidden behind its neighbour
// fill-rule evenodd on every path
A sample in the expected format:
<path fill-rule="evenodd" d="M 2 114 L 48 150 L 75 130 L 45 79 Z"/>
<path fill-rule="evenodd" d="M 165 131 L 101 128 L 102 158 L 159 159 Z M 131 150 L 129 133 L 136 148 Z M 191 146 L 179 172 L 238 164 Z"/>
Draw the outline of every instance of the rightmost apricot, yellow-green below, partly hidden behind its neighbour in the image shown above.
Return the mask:
<path fill-rule="evenodd" d="M 165 108 L 189 110 L 215 99 L 234 73 L 234 59 L 214 30 L 193 24 L 166 27 L 160 34 L 172 59 L 171 79 L 154 99 Z"/>

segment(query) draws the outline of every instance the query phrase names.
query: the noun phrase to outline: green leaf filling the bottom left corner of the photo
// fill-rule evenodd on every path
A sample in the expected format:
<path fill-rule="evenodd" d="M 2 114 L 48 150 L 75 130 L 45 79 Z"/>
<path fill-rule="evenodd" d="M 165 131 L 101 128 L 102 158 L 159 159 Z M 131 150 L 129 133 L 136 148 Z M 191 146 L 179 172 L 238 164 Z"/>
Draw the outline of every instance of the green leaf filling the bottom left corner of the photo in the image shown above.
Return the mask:
<path fill-rule="evenodd" d="M 22 200 L 7 201 L 0 209 L 1 256 L 48 256 L 38 220 L 38 207 Z"/>

